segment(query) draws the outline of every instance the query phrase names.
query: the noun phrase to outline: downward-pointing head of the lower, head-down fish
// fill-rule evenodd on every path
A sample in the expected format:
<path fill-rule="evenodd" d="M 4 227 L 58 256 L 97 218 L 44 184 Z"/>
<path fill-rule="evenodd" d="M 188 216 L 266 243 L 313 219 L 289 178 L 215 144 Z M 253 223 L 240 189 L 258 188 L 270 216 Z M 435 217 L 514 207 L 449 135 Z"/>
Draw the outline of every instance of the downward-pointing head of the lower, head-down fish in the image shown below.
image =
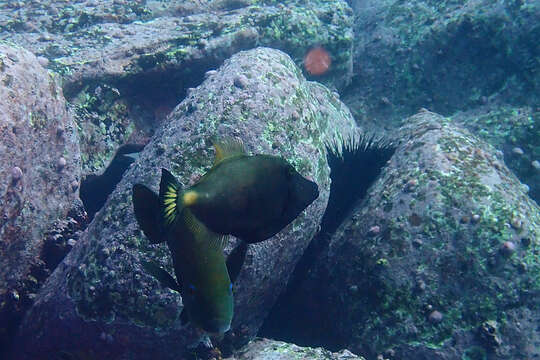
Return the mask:
<path fill-rule="evenodd" d="M 233 316 L 232 284 L 226 291 L 220 288 L 197 288 L 188 285 L 186 294 L 189 318 L 204 331 L 224 334 L 231 328 Z"/>

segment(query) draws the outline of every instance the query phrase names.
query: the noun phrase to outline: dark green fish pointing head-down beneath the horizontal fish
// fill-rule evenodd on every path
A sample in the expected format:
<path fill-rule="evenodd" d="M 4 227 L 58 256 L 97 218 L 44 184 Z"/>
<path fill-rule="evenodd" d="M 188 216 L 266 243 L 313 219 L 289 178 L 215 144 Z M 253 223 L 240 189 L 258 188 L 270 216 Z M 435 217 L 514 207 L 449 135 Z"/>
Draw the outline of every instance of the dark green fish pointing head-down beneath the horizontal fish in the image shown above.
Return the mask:
<path fill-rule="evenodd" d="M 167 187 L 178 186 L 171 178 L 165 171 L 160 197 L 146 186 L 136 184 L 133 205 L 139 226 L 150 241 L 167 241 L 180 281 L 154 263 L 146 262 L 143 266 L 162 283 L 180 292 L 186 310 L 182 313 L 184 319 L 187 313 L 193 325 L 210 333 L 223 334 L 229 330 L 233 316 L 232 283 L 222 249 L 224 238 L 210 231 L 189 209 L 183 209 L 166 230 L 163 228 L 159 199 L 167 197 L 165 183 Z"/>

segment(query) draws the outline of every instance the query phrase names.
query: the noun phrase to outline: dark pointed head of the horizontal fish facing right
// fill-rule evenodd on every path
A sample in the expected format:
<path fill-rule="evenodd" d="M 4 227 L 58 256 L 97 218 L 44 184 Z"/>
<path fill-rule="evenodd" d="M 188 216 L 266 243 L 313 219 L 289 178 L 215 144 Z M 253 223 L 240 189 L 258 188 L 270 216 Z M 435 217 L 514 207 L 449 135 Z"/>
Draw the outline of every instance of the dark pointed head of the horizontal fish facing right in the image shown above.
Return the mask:
<path fill-rule="evenodd" d="M 286 171 L 287 203 L 283 215 L 292 221 L 319 197 L 319 187 L 303 177 L 292 165 L 288 165 Z"/>

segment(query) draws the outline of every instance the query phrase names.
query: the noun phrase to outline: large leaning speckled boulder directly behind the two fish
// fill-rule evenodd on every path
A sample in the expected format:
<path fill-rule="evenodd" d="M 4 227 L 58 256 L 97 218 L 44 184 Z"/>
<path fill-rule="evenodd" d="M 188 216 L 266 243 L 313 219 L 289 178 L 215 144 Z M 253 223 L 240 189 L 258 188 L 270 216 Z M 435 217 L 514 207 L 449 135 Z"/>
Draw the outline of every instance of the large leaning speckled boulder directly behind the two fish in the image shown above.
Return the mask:
<path fill-rule="evenodd" d="M 49 277 L 22 327 L 18 358 L 75 349 L 92 349 L 98 358 L 186 356 L 186 345 L 200 334 L 180 325 L 180 295 L 141 268 L 143 259 L 157 259 L 170 271 L 172 264 L 166 245 L 150 245 L 138 229 L 131 187 L 143 183 L 157 189 L 162 167 L 184 185 L 191 183 L 213 162 L 209 138 L 214 135 L 238 136 L 252 153 L 284 156 L 320 190 L 286 229 L 250 245 L 235 283 L 233 326 L 220 346 L 226 352 L 247 343 L 323 215 L 330 185 L 324 144 L 346 137 L 354 126 L 335 94 L 306 82 L 284 53 L 257 48 L 227 60 L 171 113 Z"/>

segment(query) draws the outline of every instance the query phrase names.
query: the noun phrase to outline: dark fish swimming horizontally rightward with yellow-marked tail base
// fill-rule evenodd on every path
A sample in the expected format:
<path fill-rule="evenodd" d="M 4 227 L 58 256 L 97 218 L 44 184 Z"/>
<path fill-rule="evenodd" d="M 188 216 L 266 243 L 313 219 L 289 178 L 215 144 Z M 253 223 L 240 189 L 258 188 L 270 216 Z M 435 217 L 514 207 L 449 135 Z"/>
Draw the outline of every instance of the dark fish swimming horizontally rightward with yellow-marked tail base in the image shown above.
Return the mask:
<path fill-rule="evenodd" d="M 232 139 L 214 147 L 214 166 L 187 190 L 171 191 L 166 222 L 188 208 L 213 232 L 256 243 L 281 231 L 319 196 L 317 184 L 281 157 L 249 156 Z"/>

